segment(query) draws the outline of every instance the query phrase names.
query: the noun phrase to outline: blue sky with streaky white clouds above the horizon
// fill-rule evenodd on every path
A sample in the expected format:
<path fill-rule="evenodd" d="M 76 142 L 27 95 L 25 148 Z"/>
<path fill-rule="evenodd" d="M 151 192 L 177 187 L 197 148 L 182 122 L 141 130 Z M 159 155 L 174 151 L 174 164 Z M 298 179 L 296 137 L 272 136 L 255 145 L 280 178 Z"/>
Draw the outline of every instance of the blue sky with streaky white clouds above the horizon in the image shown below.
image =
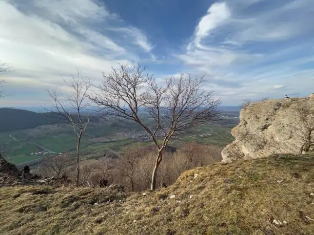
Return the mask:
<path fill-rule="evenodd" d="M 46 105 L 80 69 L 205 74 L 223 105 L 314 93 L 313 0 L 0 0 L 0 106 Z"/>

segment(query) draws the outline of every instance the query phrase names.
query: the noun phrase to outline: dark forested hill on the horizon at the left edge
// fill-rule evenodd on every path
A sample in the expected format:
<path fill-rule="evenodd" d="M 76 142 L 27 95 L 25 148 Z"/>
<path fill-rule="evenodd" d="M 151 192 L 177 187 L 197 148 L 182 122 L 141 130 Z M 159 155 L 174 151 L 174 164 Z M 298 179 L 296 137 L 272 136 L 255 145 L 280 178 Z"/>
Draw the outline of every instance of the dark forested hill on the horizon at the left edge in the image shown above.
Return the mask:
<path fill-rule="evenodd" d="M 38 125 L 63 123 L 53 113 L 35 113 L 12 108 L 0 109 L 0 132 L 34 128 Z"/>

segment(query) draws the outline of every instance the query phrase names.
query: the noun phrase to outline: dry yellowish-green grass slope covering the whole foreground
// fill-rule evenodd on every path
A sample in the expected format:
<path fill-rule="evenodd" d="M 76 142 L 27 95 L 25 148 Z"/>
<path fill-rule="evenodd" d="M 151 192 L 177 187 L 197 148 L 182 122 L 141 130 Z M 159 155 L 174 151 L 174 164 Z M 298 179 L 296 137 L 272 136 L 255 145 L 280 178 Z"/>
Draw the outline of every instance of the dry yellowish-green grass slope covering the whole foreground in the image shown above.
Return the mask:
<path fill-rule="evenodd" d="M 314 156 L 304 155 L 195 168 L 146 196 L 3 187 L 0 233 L 313 234 L 313 179 Z"/>

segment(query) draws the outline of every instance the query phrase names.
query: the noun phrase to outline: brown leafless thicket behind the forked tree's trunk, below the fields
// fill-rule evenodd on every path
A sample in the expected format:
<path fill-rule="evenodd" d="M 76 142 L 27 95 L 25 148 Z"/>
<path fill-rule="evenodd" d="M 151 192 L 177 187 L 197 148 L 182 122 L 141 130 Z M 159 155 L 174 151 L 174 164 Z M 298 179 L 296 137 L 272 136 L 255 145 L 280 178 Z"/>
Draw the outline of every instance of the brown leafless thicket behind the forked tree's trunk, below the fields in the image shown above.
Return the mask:
<path fill-rule="evenodd" d="M 205 166 L 221 161 L 222 148 L 215 145 L 186 143 L 173 152 L 173 147 L 163 153 L 163 163 L 156 177 L 156 185 L 163 183 L 173 184 L 178 177 L 187 169 Z M 154 146 L 128 146 L 118 159 L 102 158 L 98 160 L 86 160 L 81 162 L 81 185 L 98 187 L 100 180 L 106 180 L 110 184 L 122 184 L 130 191 L 148 190 L 151 186 L 151 170 L 154 168 Z M 56 163 L 53 159 L 47 162 Z M 61 163 L 66 158 L 58 157 Z M 75 182 L 76 167 L 71 161 L 62 168 L 69 180 Z M 46 172 L 48 169 L 45 169 Z M 51 174 L 50 174 L 51 176 Z"/>

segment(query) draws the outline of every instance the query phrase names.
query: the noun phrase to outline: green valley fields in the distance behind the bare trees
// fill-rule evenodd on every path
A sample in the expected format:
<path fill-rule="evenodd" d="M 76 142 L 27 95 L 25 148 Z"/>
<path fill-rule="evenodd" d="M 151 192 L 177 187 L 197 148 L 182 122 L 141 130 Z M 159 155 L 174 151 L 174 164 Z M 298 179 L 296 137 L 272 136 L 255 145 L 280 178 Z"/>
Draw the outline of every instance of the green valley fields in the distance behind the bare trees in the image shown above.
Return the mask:
<path fill-rule="evenodd" d="M 225 146 L 233 141 L 231 127 L 212 123 L 193 128 L 175 136 L 169 143 L 180 146 L 185 142 L 198 142 Z M 81 155 L 112 149 L 119 152 L 124 146 L 134 144 L 136 139 L 118 135 L 121 132 L 143 131 L 141 126 L 130 121 L 101 119 L 89 124 L 82 141 Z M 37 126 L 34 129 L 0 133 L 0 147 L 5 157 L 14 164 L 27 163 L 58 153 L 76 151 L 77 139 L 70 125 L 51 124 Z M 36 152 L 50 151 L 47 154 Z"/>

